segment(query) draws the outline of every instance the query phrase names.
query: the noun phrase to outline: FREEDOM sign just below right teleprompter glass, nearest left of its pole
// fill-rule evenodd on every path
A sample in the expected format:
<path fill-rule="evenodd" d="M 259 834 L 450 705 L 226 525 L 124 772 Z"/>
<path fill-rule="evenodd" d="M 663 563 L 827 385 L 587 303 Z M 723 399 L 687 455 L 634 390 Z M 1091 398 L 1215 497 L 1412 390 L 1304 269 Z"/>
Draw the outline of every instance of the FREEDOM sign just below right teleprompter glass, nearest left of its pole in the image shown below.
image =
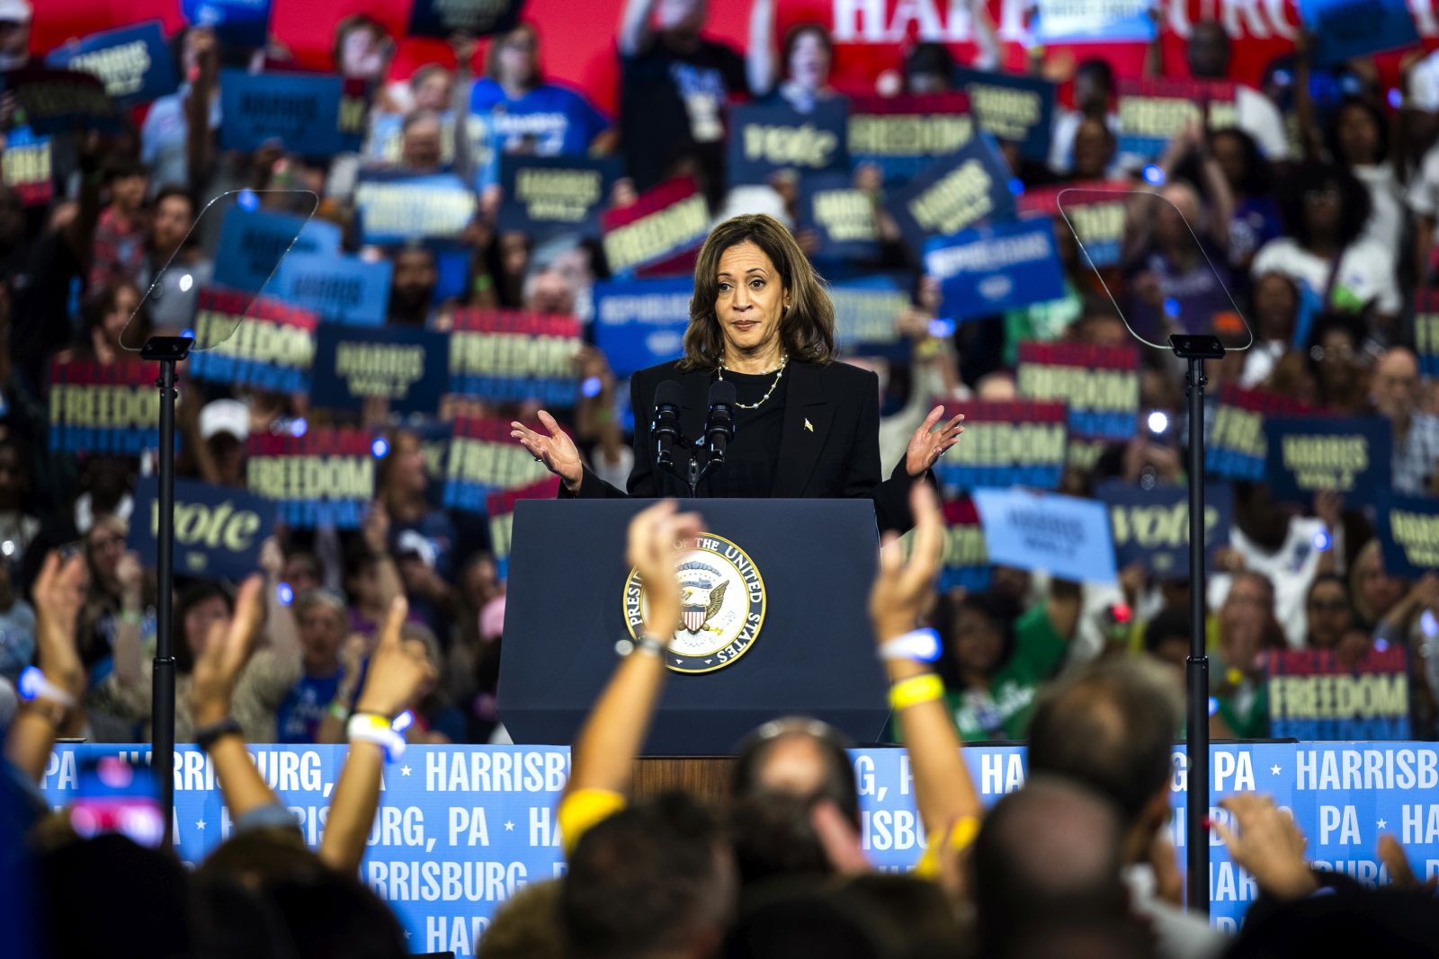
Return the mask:
<path fill-rule="evenodd" d="M 1140 418 L 1140 354 L 1134 347 L 1019 345 L 1019 395 L 1069 404 L 1069 431 L 1130 440 Z"/>

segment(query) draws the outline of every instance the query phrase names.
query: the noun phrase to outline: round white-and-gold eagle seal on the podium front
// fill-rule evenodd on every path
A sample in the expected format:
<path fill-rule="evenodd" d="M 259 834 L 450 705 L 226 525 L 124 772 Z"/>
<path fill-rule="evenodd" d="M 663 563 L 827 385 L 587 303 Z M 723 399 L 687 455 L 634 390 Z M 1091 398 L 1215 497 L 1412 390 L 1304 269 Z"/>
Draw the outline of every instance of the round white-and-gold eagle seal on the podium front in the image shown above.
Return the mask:
<path fill-rule="evenodd" d="M 681 624 L 669 640 L 665 666 L 676 673 L 712 673 L 750 651 L 764 624 L 764 579 L 750 554 L 724 536 L 701 533 L 681 554 Z M 625 624 L 632 638 L 645 628 L 645 588 L 639 572 L 625 579 Z"/>

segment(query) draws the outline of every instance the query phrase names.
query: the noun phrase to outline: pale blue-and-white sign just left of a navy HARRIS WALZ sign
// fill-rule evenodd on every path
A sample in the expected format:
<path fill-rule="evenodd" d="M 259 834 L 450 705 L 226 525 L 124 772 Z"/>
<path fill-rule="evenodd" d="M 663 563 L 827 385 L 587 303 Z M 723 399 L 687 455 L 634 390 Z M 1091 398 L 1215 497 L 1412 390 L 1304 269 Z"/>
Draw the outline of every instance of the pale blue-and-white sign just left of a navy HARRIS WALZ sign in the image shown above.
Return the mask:
<path fill-rule="evenodd" d="M 475 194 L 455 174 L 367 174 L 355 187 L 355 211 L 366 243 L 450 240 L 475 217 Z"/>

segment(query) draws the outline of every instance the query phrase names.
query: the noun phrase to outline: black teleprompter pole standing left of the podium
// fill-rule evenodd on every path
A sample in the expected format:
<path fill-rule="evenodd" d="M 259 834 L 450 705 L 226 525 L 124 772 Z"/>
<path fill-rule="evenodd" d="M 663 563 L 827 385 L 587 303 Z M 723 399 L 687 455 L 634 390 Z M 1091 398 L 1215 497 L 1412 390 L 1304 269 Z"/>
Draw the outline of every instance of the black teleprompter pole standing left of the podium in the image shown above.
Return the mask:
<path fill-rule="evenodd" d="M 186 336 L 151 336 L 141 359 L 160 364 L 160 528 L 155 531 L 155 664 L 151 699 L 151 769 L 160 784 L 164 812 L 164 847 L 174 841 L 176 804 L 176 656 L 174 656 L 174 545 L 176 545 L 176 364 L 190 354 Z"/>

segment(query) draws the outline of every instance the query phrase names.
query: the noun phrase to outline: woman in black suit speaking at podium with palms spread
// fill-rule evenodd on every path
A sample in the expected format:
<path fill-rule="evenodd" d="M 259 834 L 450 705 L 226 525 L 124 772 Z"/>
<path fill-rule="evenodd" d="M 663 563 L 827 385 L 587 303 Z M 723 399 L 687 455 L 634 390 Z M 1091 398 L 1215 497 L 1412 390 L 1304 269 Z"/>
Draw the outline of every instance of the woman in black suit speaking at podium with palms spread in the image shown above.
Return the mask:
<path fill-rule="evenodd" d="M 745 214 L 715 227 L 695 265 L 685 355 L 630 380 L 635 410 L 635 467 L 629 496 L 688 496 L 691 457 L 712 457 L 705 440 L 728 413 L 734 428 L 722 464 L 711 466 L 695 487 L 705 497 L 869 497 L 884 529 L 908 529 L 909 486 L 925 477 L 955 441 L 963 416 L 934 428 L 935 407 L 915 430 L 889 479 L 879 464 L 879 380 L 835 361 L 835 306 L 794 237 L 776 219 Z M 715 397 L 732 408 L 715 410 Z M 678 426 L 668 449 L 652 430 L 659 401 L 659 433 Z M 724 403 L 721 405 L 728 405 Z M 512 433 L 550 472 L 560 497 L 612 497 L 626 493 L 580 462 L 574 441 L 554 417 L 540 413 L 548 436 L 512 424 Z M 661 449 L 665 446 L 666 449 Z M 675 473 L 656 456 L 673 459 Z"/>

